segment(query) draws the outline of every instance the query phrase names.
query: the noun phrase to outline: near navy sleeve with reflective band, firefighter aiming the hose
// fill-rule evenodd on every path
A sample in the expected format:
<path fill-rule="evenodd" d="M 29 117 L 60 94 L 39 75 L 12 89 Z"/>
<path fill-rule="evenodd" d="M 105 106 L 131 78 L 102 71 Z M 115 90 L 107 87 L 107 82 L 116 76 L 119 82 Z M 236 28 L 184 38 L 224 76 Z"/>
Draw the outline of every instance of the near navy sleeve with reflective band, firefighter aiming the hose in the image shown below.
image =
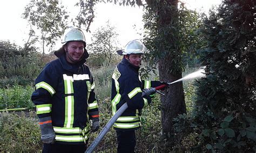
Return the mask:
<path fill-rule="evenodd" d="M 140 87 L 139 79 L 126 78 L 124 82 L 125 101 L 128 108 L 142 109 L 151 102 L 149 97 L 142 98 L 142 88 Z"/>

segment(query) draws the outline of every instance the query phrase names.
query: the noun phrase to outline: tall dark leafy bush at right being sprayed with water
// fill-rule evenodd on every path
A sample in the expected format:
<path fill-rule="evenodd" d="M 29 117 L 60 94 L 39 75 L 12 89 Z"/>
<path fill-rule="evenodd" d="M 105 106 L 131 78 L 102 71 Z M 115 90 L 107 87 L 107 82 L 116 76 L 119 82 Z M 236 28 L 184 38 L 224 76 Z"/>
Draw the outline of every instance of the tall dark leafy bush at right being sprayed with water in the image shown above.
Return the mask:
<path fill-rule="evenodd" d="M 197 83 L 191 116 L 179 116 L 187 151 L 255 152 L 255 1 L 224 1 L 201 26 L 206 48 L 200 60 L 206 78 Z M 185 139 L 184 139 L 185 140 Z"/>

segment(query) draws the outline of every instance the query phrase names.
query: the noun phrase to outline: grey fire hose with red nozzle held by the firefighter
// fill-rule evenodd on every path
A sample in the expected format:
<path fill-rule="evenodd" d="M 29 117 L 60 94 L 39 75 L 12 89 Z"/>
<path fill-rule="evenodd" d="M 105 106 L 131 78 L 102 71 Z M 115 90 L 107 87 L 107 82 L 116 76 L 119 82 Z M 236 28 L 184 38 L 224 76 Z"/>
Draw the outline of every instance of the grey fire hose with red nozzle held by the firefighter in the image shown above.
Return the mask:
<path fill-rule="evenodd" d="M 149 88 L 149 89 L 143 89 L 142 92 L 142 97 L 144 97 L 145 95 L 149 96 L 152 95 L 154 93 L 159 93 L 164 95 L 163 93 L 160 93 L 159 90 L 163 89 L 165 87 L 167 87 L 168 85 L 171 85 L 172 83 L 167 83 L 164 85 L 160 85 L 157 87 L 153 87 L 153 88 Z M 106 133 L 109 131 L 109 129 L 112 127 L 112 125 L 114 124 L 114 122 L 117 121 L 118 117 L 121 116 L 123 114 L 123 112 L 128 108 L 127 103 L 125 102 L 124 105 L 122 107 L 120 107 L 116 114 L 114 114 L 111 119 L 109 120 L 109 122 L 106 123 L 105 127 L 102 129 L 102 131 L 100 131 L 99 135 L 95 138 L 95 140 L 91 143 L 90 147 L 86 149 L 85 152 L 92 152 L 93 150 L 95 150 L 95 148 L 97 147 L 97 145 L 99 144 L 99 142 L 102 140 L 102 138 L 106 135 Z"/>

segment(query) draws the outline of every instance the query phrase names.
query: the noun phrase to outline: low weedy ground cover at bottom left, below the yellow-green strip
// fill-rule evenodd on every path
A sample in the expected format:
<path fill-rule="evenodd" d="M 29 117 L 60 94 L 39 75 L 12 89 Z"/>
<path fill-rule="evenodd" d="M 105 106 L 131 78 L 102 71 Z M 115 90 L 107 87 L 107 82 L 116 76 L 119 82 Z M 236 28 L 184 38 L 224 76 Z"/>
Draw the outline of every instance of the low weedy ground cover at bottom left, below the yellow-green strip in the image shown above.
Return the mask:
<path fill-rule="evenodd" d="M 42 150 L 35 113 L 0 113 L 0 152 L 38 152 Z"/>

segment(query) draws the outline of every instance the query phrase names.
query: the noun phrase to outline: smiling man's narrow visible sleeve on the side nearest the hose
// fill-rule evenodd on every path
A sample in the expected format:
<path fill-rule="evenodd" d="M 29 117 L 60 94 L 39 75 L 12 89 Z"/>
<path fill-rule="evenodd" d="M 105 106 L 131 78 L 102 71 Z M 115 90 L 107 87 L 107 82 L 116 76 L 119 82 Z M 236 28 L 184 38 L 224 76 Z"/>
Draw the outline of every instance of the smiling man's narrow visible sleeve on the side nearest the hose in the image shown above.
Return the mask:
<path fill-rule="evenodd" d="M 90 92 L 90 96 L 88 99 L 88 103 L 89 103 L 88 114 L 89 114 L 89 118 L 92 119 L 92 118 L 99 117 L 98 103 L 95 98 L 95 92 L 94 92 L 95 82 L 93 81 L 92 75 L 90 75 L 90 84 L 91 84 L 91 89 L 89 89 L 89 90 L 91 90 L 91 92 Z"/>

